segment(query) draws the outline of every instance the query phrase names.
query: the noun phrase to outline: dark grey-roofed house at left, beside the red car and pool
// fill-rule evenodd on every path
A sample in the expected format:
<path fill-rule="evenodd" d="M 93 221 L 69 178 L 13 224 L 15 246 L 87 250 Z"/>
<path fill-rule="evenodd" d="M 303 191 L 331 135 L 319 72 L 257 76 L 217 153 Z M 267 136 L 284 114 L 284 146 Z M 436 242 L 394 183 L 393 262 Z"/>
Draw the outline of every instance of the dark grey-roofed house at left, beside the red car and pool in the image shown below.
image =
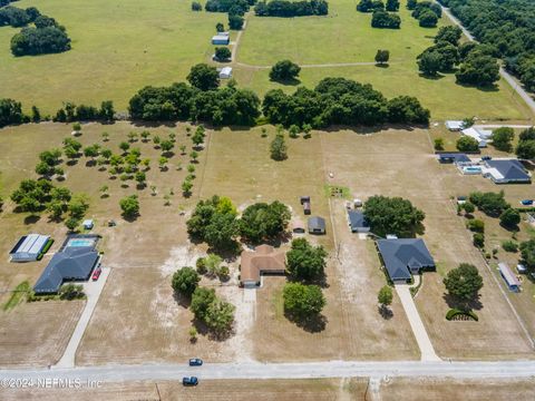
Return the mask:
<path fill-rule="evenodd" d="M 36 294 L 54 294 L 66 281 L 87 281 L 99 260 L 93 246 L 68 246 L 54 255 L 33 285 Z"/>

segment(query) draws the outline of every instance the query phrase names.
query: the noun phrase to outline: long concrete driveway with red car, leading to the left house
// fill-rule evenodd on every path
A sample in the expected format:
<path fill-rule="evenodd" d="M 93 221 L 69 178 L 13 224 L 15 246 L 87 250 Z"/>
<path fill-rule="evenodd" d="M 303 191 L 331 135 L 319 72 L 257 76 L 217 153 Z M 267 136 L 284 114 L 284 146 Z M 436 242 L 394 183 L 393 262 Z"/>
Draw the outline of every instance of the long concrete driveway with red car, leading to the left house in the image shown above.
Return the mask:
<path fill-rule="evenodd" d="M 95 311 L 95 306 L 97 306 L 98 299 L 100 297 L 100 293 L 106 284 L 106 280 L 108 280 L 109 272 L 109 267 L 103 267 L 100 277 L 98 277 L 96 282 L 89 278 L 87 283 L 84 283 L 84 291 L 87 295 L 86 307 L 84 309 L 84 312 L 81 312 L 81 316 L 75 327 L 75 331 L 72 332 L 67 348 L 65 349 L 64 355 L 58 363 L 51 366 L 52 369 L 75 366 L 76 350 L 78 350 L 78 345 L 80 344 L 81 338 L 86 332 L 93 312 Z"/>

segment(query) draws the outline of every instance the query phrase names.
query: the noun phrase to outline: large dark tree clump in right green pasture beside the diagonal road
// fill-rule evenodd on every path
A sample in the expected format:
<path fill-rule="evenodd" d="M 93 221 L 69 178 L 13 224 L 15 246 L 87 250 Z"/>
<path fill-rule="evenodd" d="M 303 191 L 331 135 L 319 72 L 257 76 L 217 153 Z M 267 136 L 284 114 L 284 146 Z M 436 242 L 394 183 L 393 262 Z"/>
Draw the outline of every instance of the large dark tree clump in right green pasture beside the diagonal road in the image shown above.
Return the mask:
<path fill-rule="evenodd" d="M 459 45 L 463 31 L 458 27 L 441 27 L 435 45 L 417 57 L 418 68 L 426 76 L 455 72 L 457 82 L 485 87 L 499 79 L 499 66 L 493 49 L 486 45 Z"/>

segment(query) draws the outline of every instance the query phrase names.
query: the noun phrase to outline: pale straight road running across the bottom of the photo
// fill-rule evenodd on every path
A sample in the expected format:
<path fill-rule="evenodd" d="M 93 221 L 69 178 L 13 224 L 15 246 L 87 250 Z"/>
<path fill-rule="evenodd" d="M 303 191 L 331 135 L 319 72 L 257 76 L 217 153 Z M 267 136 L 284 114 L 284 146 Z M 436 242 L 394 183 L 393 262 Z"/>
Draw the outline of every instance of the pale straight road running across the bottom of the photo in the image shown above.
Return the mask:
<path fill-rule="evenodd" d="M 124 382 L 135 380 L 181 380 L 186 375 L 203 379 L 318 379 L 318 378 L 385 378 L 440 376 L 457 379 L 529 378 L 535 376 L 535 361 L 447 362 L 391 361 L 351 362 L 325 361 L 302 363 L 207 363 L 200 368 L 184 364 L 109 364 L 65 369 L 0 370 L 0 381 L 13 380 L 98 380 Z"/>

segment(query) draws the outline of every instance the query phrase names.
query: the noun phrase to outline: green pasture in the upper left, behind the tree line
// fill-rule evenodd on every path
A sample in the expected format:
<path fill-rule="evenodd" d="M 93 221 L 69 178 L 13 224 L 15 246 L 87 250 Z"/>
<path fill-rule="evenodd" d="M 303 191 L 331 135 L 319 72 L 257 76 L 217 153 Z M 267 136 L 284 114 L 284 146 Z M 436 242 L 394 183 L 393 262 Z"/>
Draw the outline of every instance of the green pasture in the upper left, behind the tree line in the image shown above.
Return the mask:
<path fill-rule="evenodd" d="M 0 97 L 54 113 L 65 100 L 99 104 L 111 99 L 126 110 L 146 85 L 184 80 L 189 68 L 212 53 L 211 38 L 225 14 L 191 11 L 189 1 L 22 0 L 67 28 L 72 49 L 60 55 L 16 58 L 11 37 L 0 28 Z"/>

